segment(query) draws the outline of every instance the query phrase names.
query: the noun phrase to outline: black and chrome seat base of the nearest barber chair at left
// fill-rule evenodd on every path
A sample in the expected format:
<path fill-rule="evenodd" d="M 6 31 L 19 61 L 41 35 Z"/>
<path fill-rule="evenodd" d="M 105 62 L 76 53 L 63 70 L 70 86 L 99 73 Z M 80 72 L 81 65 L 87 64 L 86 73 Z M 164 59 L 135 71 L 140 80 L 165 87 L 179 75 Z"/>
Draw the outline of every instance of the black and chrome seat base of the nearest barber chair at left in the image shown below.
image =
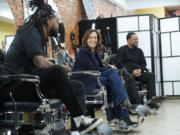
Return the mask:
<path fill-rule="evenodd" d="M 17 112 L 12 102 L 5 102 L 0 111 L 0 126 L 21 125 L 44 126 L 62 118 L 60 100 L 50 100 L 49 103 L 17 102 Z"/>

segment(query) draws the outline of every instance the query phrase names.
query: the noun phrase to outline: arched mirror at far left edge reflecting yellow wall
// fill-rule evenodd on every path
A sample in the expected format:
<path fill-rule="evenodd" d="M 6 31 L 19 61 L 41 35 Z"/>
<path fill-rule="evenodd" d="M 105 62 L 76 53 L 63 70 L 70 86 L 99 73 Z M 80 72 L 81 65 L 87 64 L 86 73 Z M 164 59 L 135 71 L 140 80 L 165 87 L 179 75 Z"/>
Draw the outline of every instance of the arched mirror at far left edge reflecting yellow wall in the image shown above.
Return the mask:
<path fill-rule="evenodd" d="M 7 0 L 0 0 L 0 50 L 8 50 L 14 38 L 14 17 Z"/>

